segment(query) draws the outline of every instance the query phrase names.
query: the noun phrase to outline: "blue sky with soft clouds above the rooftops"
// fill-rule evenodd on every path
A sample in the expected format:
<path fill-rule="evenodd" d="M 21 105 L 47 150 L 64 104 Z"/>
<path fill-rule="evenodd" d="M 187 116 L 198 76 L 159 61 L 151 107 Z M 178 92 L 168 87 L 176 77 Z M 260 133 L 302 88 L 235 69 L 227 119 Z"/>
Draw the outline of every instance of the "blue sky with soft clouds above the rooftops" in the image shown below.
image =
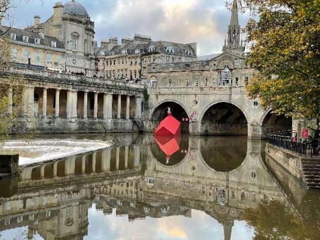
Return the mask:
<path fill-rule="evenodd" d="M 53 14 L 57 0 L 14 0 L 14 27 L 33 24 L 33 16 L 41 22 Z M 230 1 L 230 0 L 229 0 Z M 68 1 L 63 1 L 63 4 Z M 197 54 L 221 52 L 231 12 L 225 0 L 76 0 L 95 22 L 95 40 L 110 36 L 133 37 L 135 33 L 150 35 L 153 41 L 197 43 Z M 239 13 L 244 27 L 249 15 Z"/>

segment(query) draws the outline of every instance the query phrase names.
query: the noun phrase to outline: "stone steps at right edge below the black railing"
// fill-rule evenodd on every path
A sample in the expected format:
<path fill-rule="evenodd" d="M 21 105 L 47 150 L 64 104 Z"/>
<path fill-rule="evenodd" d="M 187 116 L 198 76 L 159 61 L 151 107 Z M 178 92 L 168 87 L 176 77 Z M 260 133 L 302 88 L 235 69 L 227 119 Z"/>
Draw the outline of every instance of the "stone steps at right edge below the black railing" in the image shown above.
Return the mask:
<path fill-rule="evenodd" d="M 302 169 L 310 189 L 320 189 L 320 159 L 308 158 L 301 161 Z"/>

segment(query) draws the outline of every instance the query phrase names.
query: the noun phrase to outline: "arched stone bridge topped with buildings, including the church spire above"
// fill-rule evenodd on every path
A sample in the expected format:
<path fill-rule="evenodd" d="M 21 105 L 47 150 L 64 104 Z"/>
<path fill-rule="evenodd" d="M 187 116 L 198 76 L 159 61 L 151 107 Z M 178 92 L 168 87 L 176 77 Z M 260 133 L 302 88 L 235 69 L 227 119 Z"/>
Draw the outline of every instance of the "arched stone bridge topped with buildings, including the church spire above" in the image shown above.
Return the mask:
<path fill-rule="evenodd" d="M 234 0 L 228 36 L 222 53 L 194 62 L 148 65 L 148 111 L 144 124 L 154 131 L 171 108 L 183 132 L 194 135 L 248 135 L 266 138 L 269 132 L 291 129 L 292 119 L 263 109 L 247 96 L 246 85 L 255 70 L 246 64 Z"/>

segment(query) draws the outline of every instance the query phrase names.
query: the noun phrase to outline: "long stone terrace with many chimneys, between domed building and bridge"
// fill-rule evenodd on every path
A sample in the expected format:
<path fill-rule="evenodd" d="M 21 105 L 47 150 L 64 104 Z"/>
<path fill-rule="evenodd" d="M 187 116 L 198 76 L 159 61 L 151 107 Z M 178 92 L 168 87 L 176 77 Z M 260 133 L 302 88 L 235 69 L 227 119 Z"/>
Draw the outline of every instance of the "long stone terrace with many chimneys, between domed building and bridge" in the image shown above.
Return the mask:
<path fill-rule="evenodd" d="M 152 41 L 150 36 L 135 34 L 134 38 L 116 37 L 103 40 L 94 49 L 99 58 L 98 74 L 109 78 L 147 79 L 147 66 L 151 63 L 179 63 L 195 61 L 196 43 L 179 44 Z M 140 76 L 141 72 L 141 76 Z"/>

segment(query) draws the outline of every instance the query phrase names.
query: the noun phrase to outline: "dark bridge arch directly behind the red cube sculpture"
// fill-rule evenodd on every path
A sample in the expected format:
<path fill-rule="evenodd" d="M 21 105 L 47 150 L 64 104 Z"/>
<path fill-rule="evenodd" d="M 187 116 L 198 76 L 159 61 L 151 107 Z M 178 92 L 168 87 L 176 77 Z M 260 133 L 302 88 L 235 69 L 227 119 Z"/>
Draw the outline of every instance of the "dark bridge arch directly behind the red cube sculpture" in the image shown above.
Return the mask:
<path fill-rule="evenodd" d="M 181 132 L 189 133 L 189 122 L 182 121 L 183 118 L 188 118 L 189 116 L 189 113 L 186 110 L 187 108 L 182 103 L 172 99 L 158 103 L 151 111 L 151 124 L 154 128 L 156 128 L 159 123 L 166 118 L 168 115 L 168 107 L 171 109 L 172 116 L 181 122 Z"/>

